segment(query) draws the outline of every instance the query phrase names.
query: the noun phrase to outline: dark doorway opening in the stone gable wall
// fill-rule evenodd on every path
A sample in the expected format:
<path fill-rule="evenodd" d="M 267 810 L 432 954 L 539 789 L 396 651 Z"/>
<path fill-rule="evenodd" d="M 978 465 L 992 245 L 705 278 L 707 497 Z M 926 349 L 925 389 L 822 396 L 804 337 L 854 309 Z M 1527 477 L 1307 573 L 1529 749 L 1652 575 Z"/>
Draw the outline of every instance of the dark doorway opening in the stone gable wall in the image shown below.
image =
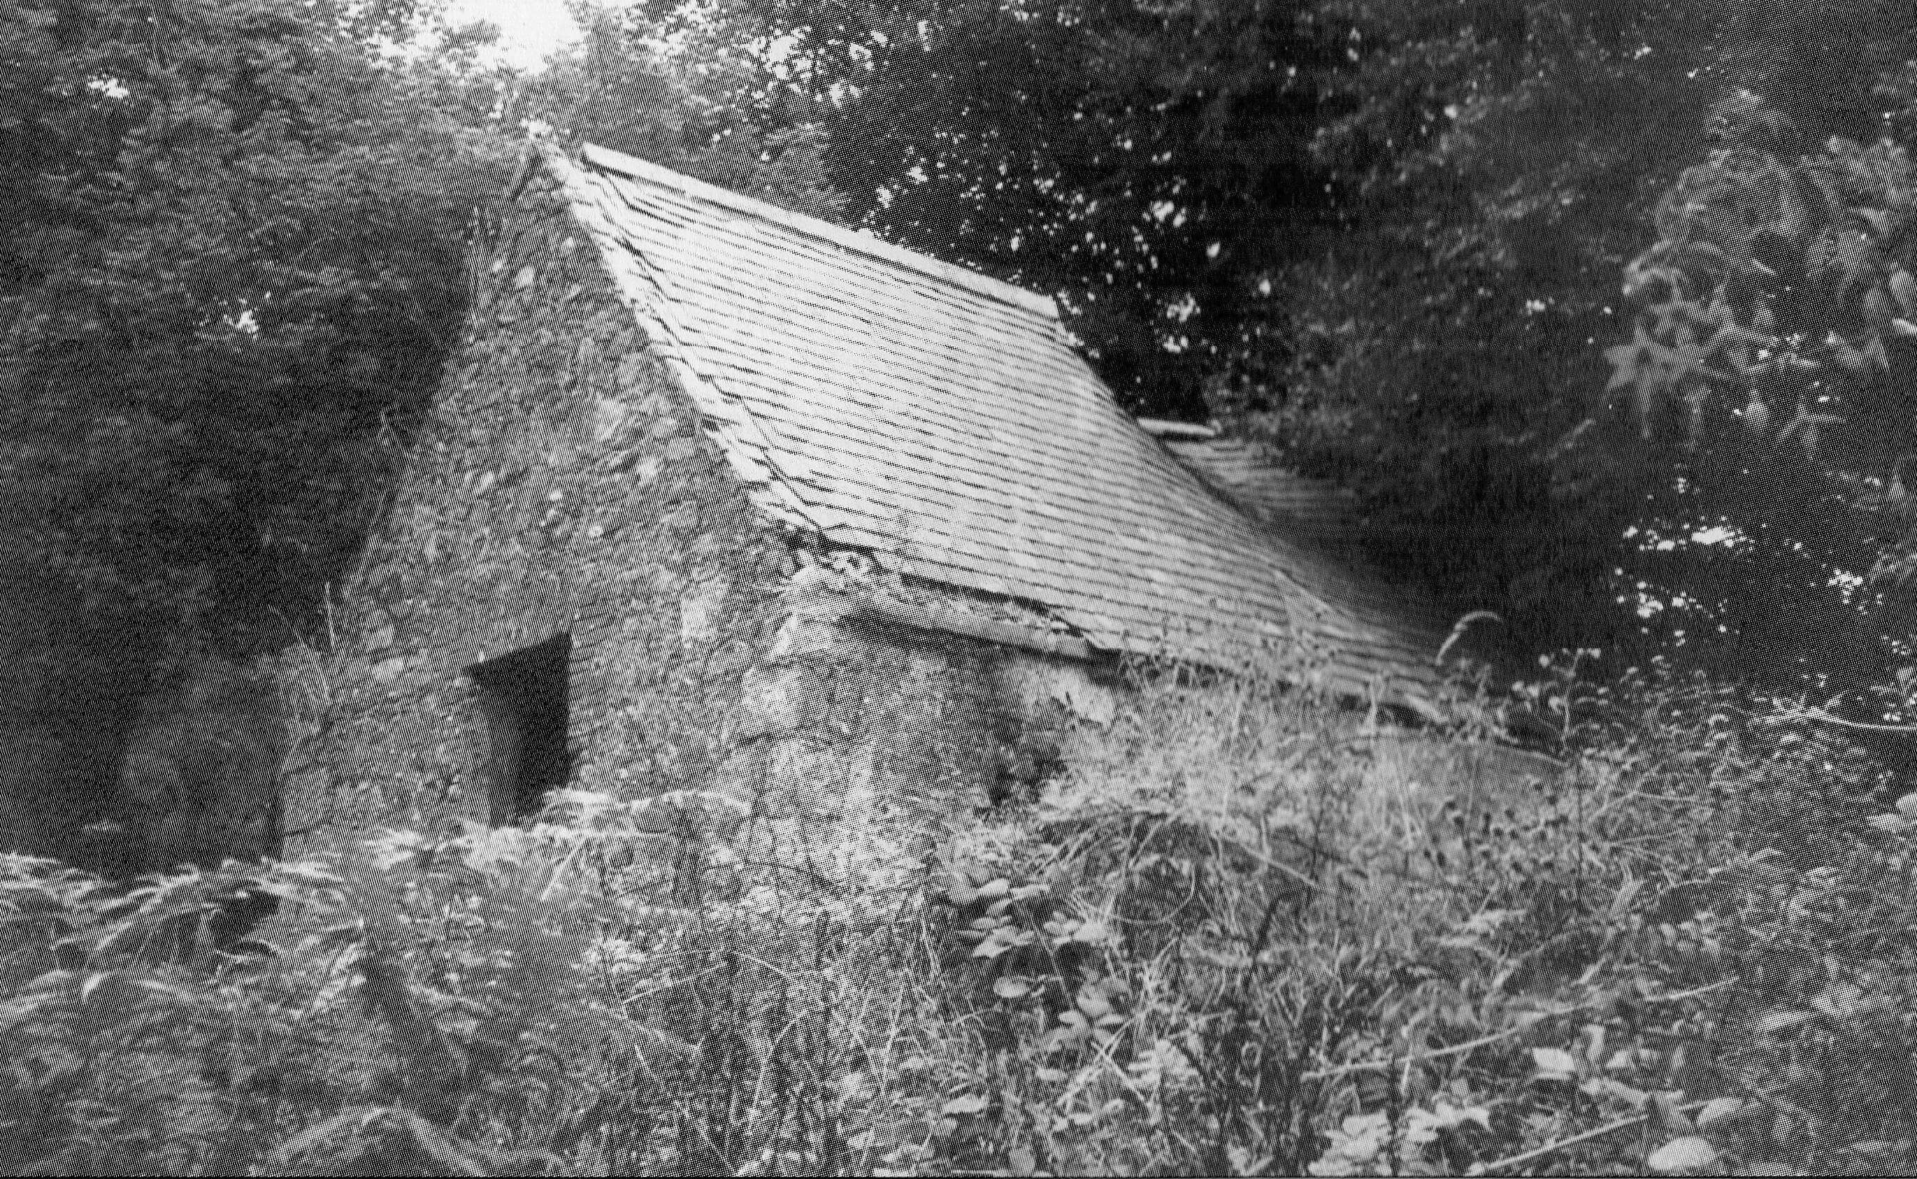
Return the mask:
<path fill-rule="evenodd" d="M 546 642 L 466 669 L 479 684 L 479 707 L 493 744 L 487 782 L 489 821 L 504 826 L 537 815 L 548 790 L 566 786 L 566 679 L 573 636 Z"/>

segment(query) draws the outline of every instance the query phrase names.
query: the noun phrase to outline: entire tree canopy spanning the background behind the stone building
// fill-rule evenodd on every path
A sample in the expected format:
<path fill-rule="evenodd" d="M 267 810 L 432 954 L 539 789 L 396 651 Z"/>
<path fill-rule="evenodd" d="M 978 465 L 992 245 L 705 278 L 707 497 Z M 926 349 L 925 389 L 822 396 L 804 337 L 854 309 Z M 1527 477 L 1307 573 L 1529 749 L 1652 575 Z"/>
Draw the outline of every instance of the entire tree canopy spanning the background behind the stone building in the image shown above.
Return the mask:
<path fill-rule="evenodd" d="M 1911 31 L 1877 0 L 10 0 L 15 562 L 284 642 L 539 117 L 1056 295 L 1121 401 L 1357 489 L 1524 648 L 1867 658 L 1917 581 Z M 295 627 L 297 629 L 297 627 Z"/>

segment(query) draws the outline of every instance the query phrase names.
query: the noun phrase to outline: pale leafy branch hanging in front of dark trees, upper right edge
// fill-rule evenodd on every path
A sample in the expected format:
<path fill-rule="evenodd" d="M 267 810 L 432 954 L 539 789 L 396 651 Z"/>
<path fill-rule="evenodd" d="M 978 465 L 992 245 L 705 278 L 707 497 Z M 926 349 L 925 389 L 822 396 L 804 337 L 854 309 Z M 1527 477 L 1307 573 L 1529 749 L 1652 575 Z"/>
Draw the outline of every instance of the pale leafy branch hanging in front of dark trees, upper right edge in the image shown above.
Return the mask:
<path fill-rule="evenodd" d="M 1631 339 L 1605 349 L 1606 393 L 1628 393 L 1652 441 L 1681 424 L 1689 449 L 1735 422 L 1754 445 L 1848 458 L 1882 443 L 1882 380 L 1917 337 L 1909 155 L 1888 140 L 1802 150 L 1754 94 L 1720 104 L 1720 150 L 1656 211 L 1658 240 L 1624 272 Z M 1840 429 L 1848 428 L 1848 429 Z M 1875 458 L 1871 454 L 1869 458 Z"/>

